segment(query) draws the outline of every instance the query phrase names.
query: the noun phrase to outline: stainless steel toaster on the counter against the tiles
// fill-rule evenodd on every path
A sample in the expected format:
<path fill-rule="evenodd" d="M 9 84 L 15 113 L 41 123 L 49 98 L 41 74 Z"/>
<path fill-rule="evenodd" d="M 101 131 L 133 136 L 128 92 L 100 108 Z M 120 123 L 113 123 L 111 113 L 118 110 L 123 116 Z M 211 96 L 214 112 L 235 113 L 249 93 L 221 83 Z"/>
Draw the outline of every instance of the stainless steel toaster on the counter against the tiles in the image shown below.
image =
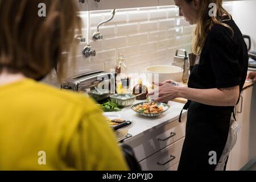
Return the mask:
<path fill-rule="evenodd" d="M 89 95 L 101 103 L 115 93 L 115 74 L 103 71 L 87 72 L 64 81 L 61 88 Z"/>

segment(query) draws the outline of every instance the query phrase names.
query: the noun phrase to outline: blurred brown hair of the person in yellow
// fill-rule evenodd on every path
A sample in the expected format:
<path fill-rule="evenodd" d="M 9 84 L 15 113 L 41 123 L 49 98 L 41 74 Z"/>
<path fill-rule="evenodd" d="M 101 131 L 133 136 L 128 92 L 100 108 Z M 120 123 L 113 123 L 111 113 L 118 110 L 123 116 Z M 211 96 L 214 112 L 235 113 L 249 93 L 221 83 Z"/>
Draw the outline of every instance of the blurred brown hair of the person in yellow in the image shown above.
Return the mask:
<path fill-rule="evenodd" d="M 46 17 L 39 17 L 39 3 Z M 75 28 L 81 30 L 75 0 L 0 0 L 0 73 L 23 73 L 39 80 L 70 51 Z"/>

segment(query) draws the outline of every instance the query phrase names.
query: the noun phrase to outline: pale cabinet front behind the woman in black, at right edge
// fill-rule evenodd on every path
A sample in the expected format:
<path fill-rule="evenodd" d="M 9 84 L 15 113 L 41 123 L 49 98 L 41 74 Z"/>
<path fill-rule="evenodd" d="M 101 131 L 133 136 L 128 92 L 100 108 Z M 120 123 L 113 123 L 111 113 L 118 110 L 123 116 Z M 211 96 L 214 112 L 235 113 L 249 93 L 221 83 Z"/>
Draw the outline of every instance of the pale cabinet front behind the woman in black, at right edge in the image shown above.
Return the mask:
<path fill-rule="evenodd" d="M 253 87 L 243 90 L 236 107 L 236 119 L 242 127 L 237 134 L 237 142 L 230 152 L 227 170 L 240 170 L 256 156 L 256 117 Z"/>

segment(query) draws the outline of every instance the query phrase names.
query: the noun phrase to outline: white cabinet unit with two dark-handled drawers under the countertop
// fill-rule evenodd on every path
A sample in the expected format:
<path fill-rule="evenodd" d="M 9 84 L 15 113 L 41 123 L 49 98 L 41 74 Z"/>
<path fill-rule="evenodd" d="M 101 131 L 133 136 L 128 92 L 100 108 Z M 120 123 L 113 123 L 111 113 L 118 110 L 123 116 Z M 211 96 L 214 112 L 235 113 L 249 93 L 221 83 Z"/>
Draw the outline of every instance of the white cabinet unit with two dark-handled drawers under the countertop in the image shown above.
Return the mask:
<path fill-rule="evenodd" d="M 165 126 L 152 128 L 127 143 L 133 148 L 143 170 L 164 171 L 179 162 L 187 115 L 184 115 L 181 121 L 180 123 L 176 120 Z"/>

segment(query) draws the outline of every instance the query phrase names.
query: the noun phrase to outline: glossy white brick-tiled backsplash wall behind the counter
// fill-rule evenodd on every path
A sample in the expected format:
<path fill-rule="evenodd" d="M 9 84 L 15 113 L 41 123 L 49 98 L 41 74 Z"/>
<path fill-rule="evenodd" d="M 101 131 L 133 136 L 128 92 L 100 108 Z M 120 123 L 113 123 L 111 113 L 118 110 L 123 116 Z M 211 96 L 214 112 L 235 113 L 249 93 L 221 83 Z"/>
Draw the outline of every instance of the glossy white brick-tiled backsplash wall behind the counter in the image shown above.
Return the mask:
<path fill-rule="evenodd" d="M 225 3 L 225 7 L 232 12 L 232 3 Z M 111 11 L 91 12 L 90 37 L 98 23 L 110 18 Z M 86 38 L 87 13 L 81 12 L 80 16 L 84 23 L 82 34 Z M 114 19 L 100 27 L 104 39 L 91 42 L 96 57 L 85 59 L 81 52 L 86 43 L 80 43 L 75 68 L 69 60 L 65 72 L 68 76 L 95 70 L 108 72 L 114 68 L 118 53 L 125 56 L 129 73 L 143 72 L 149 65 L 171 65 L 176 49 L 191 52 L 192 30 L 193 26 L 179 16 L 175 6 L 117 10 Z"/>

